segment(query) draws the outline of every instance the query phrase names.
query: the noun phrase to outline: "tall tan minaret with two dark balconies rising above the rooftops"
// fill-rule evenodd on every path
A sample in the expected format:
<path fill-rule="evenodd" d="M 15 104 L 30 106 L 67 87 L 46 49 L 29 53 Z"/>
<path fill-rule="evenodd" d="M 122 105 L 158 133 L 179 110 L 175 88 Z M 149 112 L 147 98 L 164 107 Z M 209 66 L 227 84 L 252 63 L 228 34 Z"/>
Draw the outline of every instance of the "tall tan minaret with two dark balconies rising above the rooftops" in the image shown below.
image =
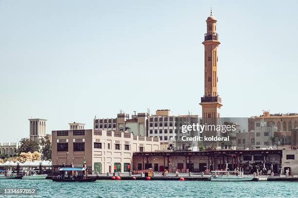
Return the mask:
<path fill-rule="evenodd" d="M 218 34 L 216 33 L 216 18 L 212 16 L 212 10 L 210 16 L 208 16 L 207 23 L 207 33 L 205 33 L 205 40 L 203 45 L 205 46 L 205 94 L 201 98 L 202 105 L 202 124 L 218 124 L 220 118 L 219 110 L 222 106 L 222 99 L 218 97 L 217 85 L 218 85 Z M 217 135 L 215 132 L 205 131 L 204 136 Z"/>

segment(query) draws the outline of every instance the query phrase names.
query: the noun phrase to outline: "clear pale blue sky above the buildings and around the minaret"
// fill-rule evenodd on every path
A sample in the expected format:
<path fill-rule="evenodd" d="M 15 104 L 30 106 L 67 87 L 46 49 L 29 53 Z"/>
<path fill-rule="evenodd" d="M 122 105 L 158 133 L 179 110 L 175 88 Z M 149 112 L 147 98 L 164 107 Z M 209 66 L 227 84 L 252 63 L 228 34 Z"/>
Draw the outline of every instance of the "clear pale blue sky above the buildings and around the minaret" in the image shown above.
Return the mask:
<path fill-rule="evenodd" d="M 298 1 L 0 0 L 0 142 L 119 110 L 201 115 L 218 20 L 222 117 L 298 113 Z"/>

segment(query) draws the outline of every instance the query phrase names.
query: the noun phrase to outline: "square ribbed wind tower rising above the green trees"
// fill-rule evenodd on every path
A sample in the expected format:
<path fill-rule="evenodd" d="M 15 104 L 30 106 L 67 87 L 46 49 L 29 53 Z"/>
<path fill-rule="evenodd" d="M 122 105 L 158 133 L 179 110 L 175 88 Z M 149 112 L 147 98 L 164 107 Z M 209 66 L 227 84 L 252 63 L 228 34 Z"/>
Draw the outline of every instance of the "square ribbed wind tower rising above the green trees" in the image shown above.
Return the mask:
<path fill-rule="evenodd" d="M 39 141 L 46 136 L 46 119 L 29 119 L 30 122 L 30 139 Z"/>

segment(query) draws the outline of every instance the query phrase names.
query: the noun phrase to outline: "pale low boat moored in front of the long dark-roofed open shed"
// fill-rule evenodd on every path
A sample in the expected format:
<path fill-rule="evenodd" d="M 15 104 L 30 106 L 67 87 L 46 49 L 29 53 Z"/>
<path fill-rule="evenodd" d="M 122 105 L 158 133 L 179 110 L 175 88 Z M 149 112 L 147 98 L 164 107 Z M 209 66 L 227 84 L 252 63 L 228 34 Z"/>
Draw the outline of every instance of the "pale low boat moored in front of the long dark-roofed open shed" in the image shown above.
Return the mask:
<path fill-rule="evenodd" d="M 253 176 L 245 176 L 242 171 L 211 171 L 211 181 L 252 181 Z M 235 175 L 230 175 L 235 174 Z"/>

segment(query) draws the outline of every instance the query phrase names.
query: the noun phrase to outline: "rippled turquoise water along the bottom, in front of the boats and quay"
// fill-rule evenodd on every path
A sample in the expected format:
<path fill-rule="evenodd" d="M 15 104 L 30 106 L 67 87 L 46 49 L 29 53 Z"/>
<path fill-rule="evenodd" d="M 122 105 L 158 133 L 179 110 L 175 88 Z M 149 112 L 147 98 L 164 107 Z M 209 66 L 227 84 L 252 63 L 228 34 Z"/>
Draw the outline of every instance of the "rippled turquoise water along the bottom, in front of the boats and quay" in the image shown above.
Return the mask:
<path fill-rule="evenodd" d="M 61 183 L 51 180 L 0 180 L 0 188 L 37 188 L 37 195 L 30 196 L 32 198 L 298 198 L 298 182 L 293 181 L 98 180 L 95 182 Z"/>

